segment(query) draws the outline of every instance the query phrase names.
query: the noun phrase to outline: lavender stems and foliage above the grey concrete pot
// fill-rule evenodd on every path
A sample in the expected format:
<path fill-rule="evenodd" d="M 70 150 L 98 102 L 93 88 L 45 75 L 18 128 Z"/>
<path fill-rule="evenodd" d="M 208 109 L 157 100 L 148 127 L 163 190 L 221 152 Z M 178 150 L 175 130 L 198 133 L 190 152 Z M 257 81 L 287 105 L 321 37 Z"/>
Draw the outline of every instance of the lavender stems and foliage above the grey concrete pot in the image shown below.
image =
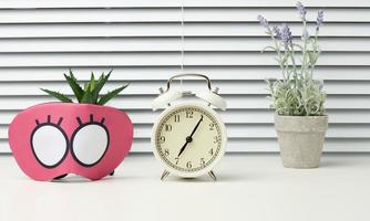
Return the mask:
<path fill-rule="evenodd" d="M 312 78 L 315 65 L 320 54 L 318 34 L 323 21 L 323 11 L 318 11 L 315 35 L 308 31 L 307 9 L 297 2 L 297 10 L 302 22 L 300 40 L 295 40 L 287 24 L 271 27 L 268 21 L 258 15 L 259 23 L 271 38 L 273 45 L 266 46 L 277 53 L 276 61 L 282 73 L 280 80 L 266 80 L 276 113 L 286 116 L 322 116 L 326 93 L 322 82 Z"/>

